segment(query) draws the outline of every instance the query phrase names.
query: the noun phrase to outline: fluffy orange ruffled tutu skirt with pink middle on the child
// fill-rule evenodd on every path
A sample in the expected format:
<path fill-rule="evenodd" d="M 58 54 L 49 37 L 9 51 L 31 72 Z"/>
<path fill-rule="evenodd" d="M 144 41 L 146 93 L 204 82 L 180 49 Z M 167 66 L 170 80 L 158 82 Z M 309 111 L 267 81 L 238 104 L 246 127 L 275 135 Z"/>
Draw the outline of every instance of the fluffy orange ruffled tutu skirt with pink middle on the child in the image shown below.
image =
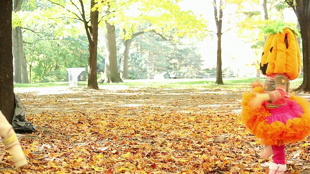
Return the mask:
<path fill-rule="evenodd" d="M 281 106 L 283 108 L 272 110 L 261 106 L 254 109 L 250 107 L 249 103 L 255 97 L 254 93 L 257 92 L 263 93 L 263 87 L 255 87 L 252 92 L 243 93 L 241 121 L 252 134 L 261 139 L 262 144 L 283 145 L 285 143 L 296 143 L 310 134 L 310 103 L 306 99 L 294 96 L 293 93 L 290 96 L 290 104 L 288 104 L 293 106 L 284 105 Z M 303 111 L 294 112 L 295 108 L 300 108 Z M 291 112 L 293 115 L 294 113 L 299 114 L 292 117 L 285 115 L 286 112 Z M 281 114 L 283 117 L 288 118 L 283 120 L 283 118 L 280 118 Z"/>

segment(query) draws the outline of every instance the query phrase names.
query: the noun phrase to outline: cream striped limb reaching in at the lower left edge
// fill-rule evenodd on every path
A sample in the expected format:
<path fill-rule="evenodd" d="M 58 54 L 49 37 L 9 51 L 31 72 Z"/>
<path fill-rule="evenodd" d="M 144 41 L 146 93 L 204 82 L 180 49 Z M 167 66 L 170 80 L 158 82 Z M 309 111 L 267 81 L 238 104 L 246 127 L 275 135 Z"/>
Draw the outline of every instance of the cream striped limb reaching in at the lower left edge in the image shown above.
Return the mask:
<path fill-rule="evenodd" d="M 23 150 L 18 142 L 16 133 L 12 125 L 7 121 L 5 116 L 0 111 L 0 135 L 2 143 L 5 145 L 9 153 L 12 155 L 16 168 L 26 166 L 28 161 Z"/>

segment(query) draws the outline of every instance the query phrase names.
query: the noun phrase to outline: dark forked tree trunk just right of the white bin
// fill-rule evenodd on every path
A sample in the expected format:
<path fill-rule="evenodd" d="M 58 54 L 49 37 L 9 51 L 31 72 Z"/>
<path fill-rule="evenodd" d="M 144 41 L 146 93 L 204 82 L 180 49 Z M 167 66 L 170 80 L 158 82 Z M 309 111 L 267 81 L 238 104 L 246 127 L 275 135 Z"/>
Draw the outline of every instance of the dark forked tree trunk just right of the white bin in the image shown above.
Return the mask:
<path fill-rule="evenodd" d="M 94 0 L 91 0 L 91 9 L 95 4 L 96 2 Z M 91 27 L 87 25 L 86 20 L 84 21 L 89 42 L 87 88 L 90 89 L 99 89 L 97 82 L 98 15 L 99 12 L 97 10 L 96 11 L 91 10 Z"/>

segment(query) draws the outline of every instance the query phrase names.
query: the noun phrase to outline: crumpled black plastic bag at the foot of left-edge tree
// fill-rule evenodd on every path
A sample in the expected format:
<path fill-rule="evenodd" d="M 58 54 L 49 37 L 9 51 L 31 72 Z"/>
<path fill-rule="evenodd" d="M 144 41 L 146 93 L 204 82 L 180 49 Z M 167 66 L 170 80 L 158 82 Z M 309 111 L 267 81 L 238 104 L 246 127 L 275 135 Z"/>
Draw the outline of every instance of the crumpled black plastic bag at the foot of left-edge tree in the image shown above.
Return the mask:
<path fill-rule="evenodd" d="M 35 126 L 25 120 L 25 110 L 20 98 L 15 94 L 15 110 L 12 126 L 16 133 L 35 132 Z"/>

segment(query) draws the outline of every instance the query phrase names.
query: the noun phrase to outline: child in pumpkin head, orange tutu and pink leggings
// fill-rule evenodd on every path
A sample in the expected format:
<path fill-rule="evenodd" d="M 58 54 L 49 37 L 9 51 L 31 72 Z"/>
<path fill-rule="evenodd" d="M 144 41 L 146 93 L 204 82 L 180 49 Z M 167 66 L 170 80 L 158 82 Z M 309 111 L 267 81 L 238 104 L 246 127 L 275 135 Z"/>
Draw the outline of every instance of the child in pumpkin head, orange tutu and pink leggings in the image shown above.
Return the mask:
<path fill-rule="evenodd" d="M 261 58 L 265 83 L 251 83 L 252 92 L 242 96 L 242 121 L 264 145 L 261 158 L 273 154 L 269 174 L 286 170 L 285 144 L 303 140 L 310 134 L 310 104 L 288 96 L 290 80 L 299 76 L 300 50 L 297 29 L 278 23 L 264 28 L 269 33 Z"/>

